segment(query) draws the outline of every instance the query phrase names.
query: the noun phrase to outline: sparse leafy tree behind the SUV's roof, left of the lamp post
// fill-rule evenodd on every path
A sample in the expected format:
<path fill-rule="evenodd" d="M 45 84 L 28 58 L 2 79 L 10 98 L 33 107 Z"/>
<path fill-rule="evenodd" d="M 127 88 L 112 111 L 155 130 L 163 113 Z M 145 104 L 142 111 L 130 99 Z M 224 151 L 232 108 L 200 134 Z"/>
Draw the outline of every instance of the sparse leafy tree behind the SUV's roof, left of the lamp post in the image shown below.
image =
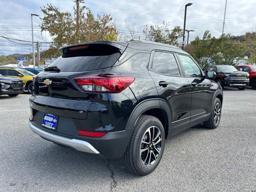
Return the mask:
<path fill-rule="evenodd" d="M 179 46 L 178 38 L 183 35 L 182 28 L 175 26 L 173 29 L 170 28 L 170 23 L 162 23 L 162 26 L 148 26 L 145 25 L 142 30 L 145 40 Z"/>

